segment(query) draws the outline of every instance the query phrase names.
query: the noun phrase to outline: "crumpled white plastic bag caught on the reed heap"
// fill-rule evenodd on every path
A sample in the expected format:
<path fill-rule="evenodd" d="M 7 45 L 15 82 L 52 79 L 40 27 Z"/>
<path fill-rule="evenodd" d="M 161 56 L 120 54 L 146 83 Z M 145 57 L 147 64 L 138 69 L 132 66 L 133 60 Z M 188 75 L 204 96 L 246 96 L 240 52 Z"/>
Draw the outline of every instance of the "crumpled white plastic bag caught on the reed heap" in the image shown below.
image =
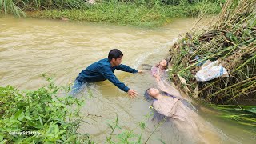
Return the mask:
<path fill-rule="evenodd" d="M 218 60 L 214 62 L 207 60 L 202 65 L 202 69 L 195 74 L 198 82 L 206 82 L 218 77 L 229 77 L 226 69 L 219 64 Z"/>

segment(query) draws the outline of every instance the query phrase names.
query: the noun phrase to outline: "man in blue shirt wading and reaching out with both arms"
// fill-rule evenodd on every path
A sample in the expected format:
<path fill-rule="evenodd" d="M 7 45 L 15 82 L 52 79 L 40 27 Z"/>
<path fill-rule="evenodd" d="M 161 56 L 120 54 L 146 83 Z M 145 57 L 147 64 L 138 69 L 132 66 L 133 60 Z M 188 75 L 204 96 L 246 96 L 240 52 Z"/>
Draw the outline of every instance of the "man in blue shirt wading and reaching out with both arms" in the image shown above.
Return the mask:
<path fill-rule="evenodd" d="M 142 72 L 142 70 L 138 71 L 130 68 L 129 66 L 122 65 L 122 56 L 123 54 L 120 50 L 110 50 L 108 58 L 104 58 L 102 60 L 99 60 L 98 62 L 94 62 L 93 64 L 88 66 L 86 70 L 82 70 L 82 72 L 78 74 L 78 77 L 74 82 L 71 94 L 77 94 L 82 88 L 82 85 L 86 84 L 87 82 L 99 82 L 108 79 L 119 89 L 128 93 L 131 98 L 135 98 L 138 93 L 135 90 L 131 90 L 124 83 L 120 82 L 118 78 L 114 75 L 114 70 L 117 69 L 129 73 L 138 73 Z"/>

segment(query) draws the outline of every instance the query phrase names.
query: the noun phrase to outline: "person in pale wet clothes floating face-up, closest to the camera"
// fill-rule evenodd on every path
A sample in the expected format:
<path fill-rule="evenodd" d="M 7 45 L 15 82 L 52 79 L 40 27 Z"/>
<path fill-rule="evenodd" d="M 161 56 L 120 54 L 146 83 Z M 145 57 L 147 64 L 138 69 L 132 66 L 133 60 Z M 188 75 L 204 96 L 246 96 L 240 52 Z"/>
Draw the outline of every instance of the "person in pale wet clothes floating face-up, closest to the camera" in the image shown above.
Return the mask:
<path fill-rule="evenodd" d="M 203 121 L 190 102 L 155 88 L 146 90 L 144 96 L 152 102 L 154 118 L 170 120 L 185 138 L 196 143 L 220 142 L 217 131 Z"/>

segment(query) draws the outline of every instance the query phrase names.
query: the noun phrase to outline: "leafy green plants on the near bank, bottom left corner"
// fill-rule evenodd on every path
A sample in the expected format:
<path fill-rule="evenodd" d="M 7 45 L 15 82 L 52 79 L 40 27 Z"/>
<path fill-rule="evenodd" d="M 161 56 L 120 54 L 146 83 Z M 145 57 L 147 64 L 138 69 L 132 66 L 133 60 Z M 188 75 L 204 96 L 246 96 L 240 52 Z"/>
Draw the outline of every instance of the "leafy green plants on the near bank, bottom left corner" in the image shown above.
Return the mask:
<path fill-rule="evenodd" d="M 46 79 L 49 85 L 38 90 L 0 87 L 0 141 L 90 142 L 88 134 L 77 133 L 83 120 L 75 112 L 83 105 L 83 101 L 59 97 L 60 88 L 54 85 L 51 78 Z M 74 108 L 74 111 L 70 108 Z"/>

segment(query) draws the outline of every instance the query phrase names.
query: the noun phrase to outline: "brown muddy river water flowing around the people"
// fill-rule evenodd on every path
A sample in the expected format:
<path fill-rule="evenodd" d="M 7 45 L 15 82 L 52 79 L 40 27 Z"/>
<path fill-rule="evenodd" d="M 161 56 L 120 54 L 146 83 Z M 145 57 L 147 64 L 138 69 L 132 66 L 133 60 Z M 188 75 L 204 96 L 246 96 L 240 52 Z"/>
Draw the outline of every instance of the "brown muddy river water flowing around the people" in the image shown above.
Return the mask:
<path fill-rule="evenodd" d="M 30 18 L 0 17 L 0 86 L 12 85 L 18 89 L 35 90 L 46 86 L 42 74 L 54 77 L 58 86 L 74 82 L 78 73 L 101 58 L 110 49 L 122 50 L 122 63 L 141 69 L 142 64 L 154 65 L 168 54 L 170 45 L 179 34 L 193 26 L 196 18 L 177 18 L 168 26 L 142 29 L 130 26 L 111 26 L 88 22 L 64 22 Z M 205 26 L 205 18 L 200 26 Z M 79 131 L 89 133 L 97 143 L 106 141 L 111 130 L 107 122 L 114 122 L 118 115 L 121 130 L 134 130 L 140 134 L 138 122 L 146 122 L 142 142 L 146 142 L 157 122 L 145 117 L 150 114 L 150 103 L 143 98 L 145 90 L 155 87 L 149 72 L 128 74 L 116 71 L 117 77 L 130 88 L 137 90 L 138 98 L 130 99 L 110 82 L 97 82 L 89 86 L 93 93 L 87 98 L 82 114 L 96 114 L 85 118 Z M 82 91 L 86 95 L 86 90 Z M 256 136 L 250 127 L 218 118 L 209 110 L 199 110 L 206 122 L 222 134 L 222 143 L 255 143 Z M 248 132 L 249 131 L 249 132 Z M 170 122 L 155 130 L 147 143 L 190 143 Z M 218 143 L 218 142 L 212 142 Z"/>

